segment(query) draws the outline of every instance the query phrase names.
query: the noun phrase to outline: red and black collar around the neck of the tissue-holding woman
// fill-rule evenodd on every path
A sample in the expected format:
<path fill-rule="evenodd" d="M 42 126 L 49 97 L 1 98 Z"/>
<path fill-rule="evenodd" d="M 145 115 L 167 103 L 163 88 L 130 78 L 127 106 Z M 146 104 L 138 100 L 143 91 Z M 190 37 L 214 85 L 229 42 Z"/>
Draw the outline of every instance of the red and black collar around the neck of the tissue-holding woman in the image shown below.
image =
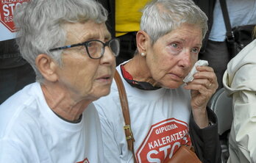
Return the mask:
<path fill-rule="evenodd" d="M 141 90 L 158 90 L 161 87 L 154 87 L 152 84 L 148 83 L 148 82 L 138 82 L 133 80 L 131 74 L 129 74 L 127 72 L 127 70 L 125 70 L 124 65 L 121 65 L 121 73 L 122 76 L 124 77 L 124 79 L 132 86 L 132 87 L 136 87 L 138 89 Z"/>

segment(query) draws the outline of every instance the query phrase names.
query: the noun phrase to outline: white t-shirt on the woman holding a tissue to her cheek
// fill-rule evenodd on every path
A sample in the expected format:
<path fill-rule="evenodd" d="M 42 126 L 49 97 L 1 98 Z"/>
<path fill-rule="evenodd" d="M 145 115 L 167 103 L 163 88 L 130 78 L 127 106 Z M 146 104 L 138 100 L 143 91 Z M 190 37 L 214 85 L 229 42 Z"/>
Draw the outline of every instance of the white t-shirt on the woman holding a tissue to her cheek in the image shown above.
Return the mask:
<path fill-rule="evenodd" d="M 117 68 L 120 72 L 120 66 Z M 177 89 L 139 90 L 123 78 L 129 102 L 135 155 L 138 162 L 163 162 L 171 157 L 179 145 L 191 145 L 188 123 L 191 115 L 190 91 Z M 133 162 L 124 134 L 115 82 L 110 95 L 93 102 L 102 123 L 105 162 Z"/>

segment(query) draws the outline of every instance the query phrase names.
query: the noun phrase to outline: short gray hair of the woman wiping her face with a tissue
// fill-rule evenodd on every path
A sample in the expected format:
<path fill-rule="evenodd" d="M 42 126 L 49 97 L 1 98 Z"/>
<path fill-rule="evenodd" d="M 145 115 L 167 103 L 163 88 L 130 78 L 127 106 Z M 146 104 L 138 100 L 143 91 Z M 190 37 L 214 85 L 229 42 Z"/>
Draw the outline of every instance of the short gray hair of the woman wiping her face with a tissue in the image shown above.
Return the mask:
<path fill-rule="evenodd" d="M 207 16 L 191 0 L 153 0 L 143 9 L 141 30 L 145 31 L 154 44 L 182 23 L 198 24 L 202 37 L 207 32 Z"/>

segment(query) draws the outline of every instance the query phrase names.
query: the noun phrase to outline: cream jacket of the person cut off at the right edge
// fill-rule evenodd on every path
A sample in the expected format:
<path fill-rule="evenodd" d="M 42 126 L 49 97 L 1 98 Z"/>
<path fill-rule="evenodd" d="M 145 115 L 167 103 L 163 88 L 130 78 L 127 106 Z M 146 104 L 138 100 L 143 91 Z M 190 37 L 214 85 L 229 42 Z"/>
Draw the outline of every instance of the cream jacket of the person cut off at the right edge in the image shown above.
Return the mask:
<path fill-rule="evenodd" d="M 256 37 L 256 26 L 254 29 Z M 256 40 L 227 65 L 223 84 L 232 97 L 233 121 L 229 138 L 230 162 L 256 162 Z"/>

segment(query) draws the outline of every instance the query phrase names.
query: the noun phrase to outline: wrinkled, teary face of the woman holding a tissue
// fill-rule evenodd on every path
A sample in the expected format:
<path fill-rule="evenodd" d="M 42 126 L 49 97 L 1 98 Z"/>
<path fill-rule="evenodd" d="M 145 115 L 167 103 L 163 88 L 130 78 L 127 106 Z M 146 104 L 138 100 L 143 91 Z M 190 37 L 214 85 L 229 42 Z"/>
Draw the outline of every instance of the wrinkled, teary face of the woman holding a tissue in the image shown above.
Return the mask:
<path fill-rule="evenodd" d="M 146 63 L 152 78 L 162 87 L 177 88 L 198 59 L 202 29 L 192 24 L 160 37 L 146 50 Z"/>

